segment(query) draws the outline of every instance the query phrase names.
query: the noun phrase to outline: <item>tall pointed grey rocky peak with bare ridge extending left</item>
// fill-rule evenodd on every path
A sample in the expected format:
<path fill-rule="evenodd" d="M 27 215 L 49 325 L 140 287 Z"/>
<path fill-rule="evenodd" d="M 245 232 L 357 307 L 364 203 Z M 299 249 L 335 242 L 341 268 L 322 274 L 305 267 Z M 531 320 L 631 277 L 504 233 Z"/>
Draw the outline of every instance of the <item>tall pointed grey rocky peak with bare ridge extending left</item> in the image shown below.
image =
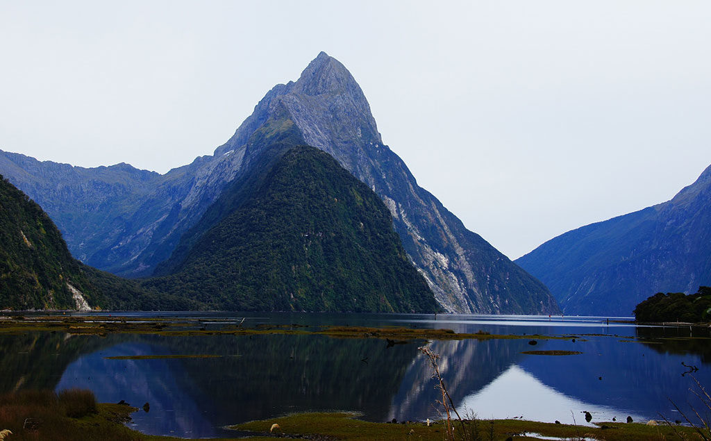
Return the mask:
<path fill-rule="evenodd" d="M 52 216 L 82 262 L 117 275 L 145 277 L 171 257 L 183 234 L 205 213 L 220 213 L 213 203 L 228 184 L 249 174 L 274 142 L 321 149 L 378 193 L 407 255 L 444 309 L 558 311 L 541 282 L 466 230 L 417 186 L 407 166 L 383 144 L 358 84 L 326 53 L 298 81 L 270 90 L 212 156 L 164 175 L 127 164 L 85 169 L 8 152 L 0 152 L 0 173 Z"/>

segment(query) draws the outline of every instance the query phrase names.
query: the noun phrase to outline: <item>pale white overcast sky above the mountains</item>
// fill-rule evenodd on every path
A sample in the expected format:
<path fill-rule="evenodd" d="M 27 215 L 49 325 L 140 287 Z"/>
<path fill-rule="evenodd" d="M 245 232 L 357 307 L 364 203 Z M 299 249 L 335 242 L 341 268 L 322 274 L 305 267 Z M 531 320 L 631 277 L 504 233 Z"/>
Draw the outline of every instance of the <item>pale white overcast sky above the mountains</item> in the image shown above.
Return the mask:
<path fill-rule="evenodd" d="M 326 51 L 515 259 L 711 164 L 710 23 L 708 1 L 0 0 L 0 149 L 164 173 Z"/>

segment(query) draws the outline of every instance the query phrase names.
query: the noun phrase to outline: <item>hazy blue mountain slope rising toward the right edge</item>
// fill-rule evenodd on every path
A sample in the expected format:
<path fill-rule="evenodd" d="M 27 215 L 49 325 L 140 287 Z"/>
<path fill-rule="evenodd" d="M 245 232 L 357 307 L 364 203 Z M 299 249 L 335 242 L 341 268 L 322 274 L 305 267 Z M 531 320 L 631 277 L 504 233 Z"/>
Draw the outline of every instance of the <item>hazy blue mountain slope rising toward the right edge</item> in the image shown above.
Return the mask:
<path fill-rule="evenodd" d="M 711 166 L 671 201 L 553 238 L 516 263 L 565 314 L 631 316 L 656 292 L 711 283 Z"/>

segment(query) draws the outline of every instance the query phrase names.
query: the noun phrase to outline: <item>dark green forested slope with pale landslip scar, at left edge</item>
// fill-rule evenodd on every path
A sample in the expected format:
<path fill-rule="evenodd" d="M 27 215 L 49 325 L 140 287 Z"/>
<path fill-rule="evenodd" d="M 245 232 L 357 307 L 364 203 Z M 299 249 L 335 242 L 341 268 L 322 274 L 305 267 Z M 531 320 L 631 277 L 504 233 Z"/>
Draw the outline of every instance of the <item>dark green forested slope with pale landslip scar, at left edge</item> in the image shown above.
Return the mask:
<path fill-rule="evenodd" d="M 86 303 L 77 304 L 72 288 Z M 0 309 L 204 309 L 72 257 L 40 206 L 0 176 Z"/>

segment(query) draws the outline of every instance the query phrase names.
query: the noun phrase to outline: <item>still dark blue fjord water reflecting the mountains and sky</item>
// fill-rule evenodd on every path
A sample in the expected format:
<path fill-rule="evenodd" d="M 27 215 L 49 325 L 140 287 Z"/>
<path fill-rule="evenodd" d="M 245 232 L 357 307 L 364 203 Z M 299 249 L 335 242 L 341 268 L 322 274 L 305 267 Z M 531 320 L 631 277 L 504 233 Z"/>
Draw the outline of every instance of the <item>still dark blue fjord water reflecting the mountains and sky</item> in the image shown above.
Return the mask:
<path fill-rule="evenodd" d="M 145 317 L 146 313 L 134 314 Z M 160 317 L 165 313 L 154 314 Z M 180 313 L 218 329 L 245 315 Z M 410 326 L 526 335 L 525 339 L 432 341 L 459 412 L 584 424 L 600 420 L 682 420 L 695 383 L 682 363 L 711 385 L 711 332 L 639 327 L 601 317 L 432 314 L 247 314 L 244 325 Z M 566 336 L 537 339 L 532 334 Z M 573 342 L 572 339 L 575 339 Z M 150 404 L 132 427 L 155 435 L 230 435 L 225 425 L 309 410 L 351 410 L 365 420 L 437 418 L 432 370 L 419 354 L 426 341 L 388 346 L 380 339 L 323 335 L 252 336 L 28 333 L 0 336 L 0 388 L 89 388 L 100 402 Z M 530 350 L 580 351 L 568 356 Z M 210 358 L 115 359 L 115 356 L 210 355 Z M 602 379 L 601 379 L 602 378 Z M 700 406 L 697 405 L 697 408 Z"/>

